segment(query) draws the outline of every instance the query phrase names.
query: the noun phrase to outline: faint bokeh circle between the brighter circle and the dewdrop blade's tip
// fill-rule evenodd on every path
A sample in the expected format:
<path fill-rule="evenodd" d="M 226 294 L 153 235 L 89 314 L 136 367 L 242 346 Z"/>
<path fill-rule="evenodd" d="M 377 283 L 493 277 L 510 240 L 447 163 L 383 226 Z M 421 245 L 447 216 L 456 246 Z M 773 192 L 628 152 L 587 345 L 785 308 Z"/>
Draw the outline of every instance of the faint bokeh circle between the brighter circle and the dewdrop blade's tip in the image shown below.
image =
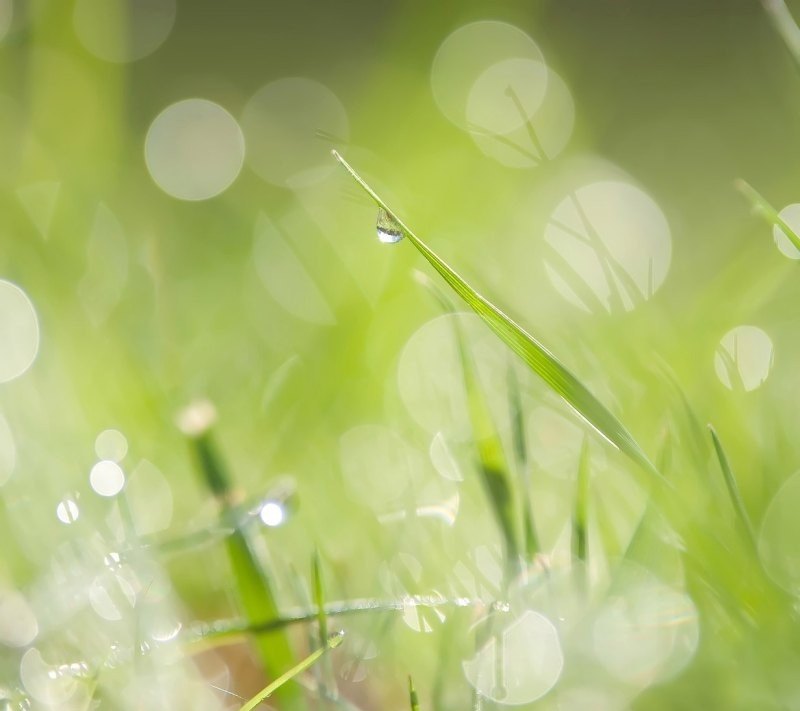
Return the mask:
<path fill-rule="evenodd" d="M 332 145 L 350 138 L 342 102 L 313 79 L 278 79 L 259 89 L 242 112 L 247 162 L 263 180 L 304 188 L 334 169 Z"/>

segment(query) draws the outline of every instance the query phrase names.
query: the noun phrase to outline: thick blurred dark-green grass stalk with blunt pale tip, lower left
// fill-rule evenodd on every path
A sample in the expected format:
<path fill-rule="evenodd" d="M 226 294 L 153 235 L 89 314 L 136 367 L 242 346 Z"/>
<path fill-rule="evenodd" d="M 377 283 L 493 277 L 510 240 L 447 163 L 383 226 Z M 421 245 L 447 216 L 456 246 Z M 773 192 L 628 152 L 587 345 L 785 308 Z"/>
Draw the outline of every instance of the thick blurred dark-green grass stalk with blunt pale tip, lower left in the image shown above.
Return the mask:
<path fill-rule="evenodd" d="M 191 405 L 181 417 L 181 429 L 192 445 L 201 476 L 220 504 L 222 525 L 231 529 L 225 547 L 242 612 L 250 625 L 258 625 L 279 617 L 278 605 L 269 574 L 256 553 L 252 530 L 249 526 L 243 526 L 240 520 L 231 477 L 212 438 L 213 420 L 210 403 Z M 289 641 L 282 631 L 277 631 L 269 638 L 256 637 L 254 643 L 268 678 L 274 678 L 278 670 L 294 662 Z M 303 707 L 302 694 L 294 687 L 288 687 L 280 696 L 289 708 Z"/>

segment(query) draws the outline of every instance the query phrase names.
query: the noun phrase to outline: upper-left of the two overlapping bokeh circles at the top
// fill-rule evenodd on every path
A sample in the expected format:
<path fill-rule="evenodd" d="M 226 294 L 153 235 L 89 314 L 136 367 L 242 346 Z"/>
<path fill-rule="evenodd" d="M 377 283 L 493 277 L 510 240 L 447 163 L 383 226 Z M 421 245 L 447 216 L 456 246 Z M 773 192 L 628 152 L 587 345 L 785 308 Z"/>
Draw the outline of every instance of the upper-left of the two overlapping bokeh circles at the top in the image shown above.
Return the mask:
<path fill-rule="evenodd" d="M 514 62 L 503 64 L 504 60 Z M 503 75 L 519 71 L 525 67 L 524 62 L 531 60 L 544 63 L 539 47 L 518 27 L 495 20 L 464 25 L 450 34 L 436 52 L 431 66 L 433 97 L 439 110 L 450 121 L 469 129 L 470 118 L 475 118 L 478 95 L 483 95 L 489 85 L 492 85 L 490 93 L 502 92 L 507 86 L 500 81 Z M 537 93 L 538 90 L 534 90 L 532 95 Z M 468 111 L 470 105 L 472 108 Z M 526 108 L 535 110 L 538 104 L 532 109 Z"/>

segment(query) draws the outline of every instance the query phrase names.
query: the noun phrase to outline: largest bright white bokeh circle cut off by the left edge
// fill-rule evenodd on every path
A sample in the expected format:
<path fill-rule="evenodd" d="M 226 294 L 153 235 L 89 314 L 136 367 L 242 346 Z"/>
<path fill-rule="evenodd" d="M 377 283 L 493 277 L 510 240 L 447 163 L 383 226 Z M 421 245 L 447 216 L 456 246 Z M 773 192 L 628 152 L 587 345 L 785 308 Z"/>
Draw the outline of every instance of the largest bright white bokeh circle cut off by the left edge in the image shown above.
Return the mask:
<path fill-rule="evenodd" d="M 0 279 L 0 383 L 22 375 L 39 351 L 39 321 L 24 291 Z"/>

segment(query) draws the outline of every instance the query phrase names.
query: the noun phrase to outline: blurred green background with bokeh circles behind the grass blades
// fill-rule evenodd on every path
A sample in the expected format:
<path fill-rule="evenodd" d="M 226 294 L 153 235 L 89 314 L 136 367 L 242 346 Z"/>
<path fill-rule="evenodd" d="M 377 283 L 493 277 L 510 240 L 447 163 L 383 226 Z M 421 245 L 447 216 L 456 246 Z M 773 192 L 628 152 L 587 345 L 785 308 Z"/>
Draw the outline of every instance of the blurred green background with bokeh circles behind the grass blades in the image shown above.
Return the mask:
<path fill-rule="evenodd" d="M 503 590 L 452 322 L 510 448 L 509 353 L 441 314 L 331 149 L 672 462 L 666 511 L 590 436 L 592 580 L 664 524 L 580 631 L 550 607 L 570 585 Z M 735 188 L 800 227 L 798 156 L 800 75 L 756 0 L 2 0 L 0 707 L 238 708 L 263 685 L 244 645 L 183 642 L 238 615 L 193 417 L 283 607 L 309 604 L 314 550 L 330 600 L 513 598 L 503 653 L 471 602 L 343 618 L 359 708 L 407 708 L 408 673 L 423 708 L 800 707 L 800 250 Z M 569 578 L 586 427 L 512 367 L 531 565 Z"/>

